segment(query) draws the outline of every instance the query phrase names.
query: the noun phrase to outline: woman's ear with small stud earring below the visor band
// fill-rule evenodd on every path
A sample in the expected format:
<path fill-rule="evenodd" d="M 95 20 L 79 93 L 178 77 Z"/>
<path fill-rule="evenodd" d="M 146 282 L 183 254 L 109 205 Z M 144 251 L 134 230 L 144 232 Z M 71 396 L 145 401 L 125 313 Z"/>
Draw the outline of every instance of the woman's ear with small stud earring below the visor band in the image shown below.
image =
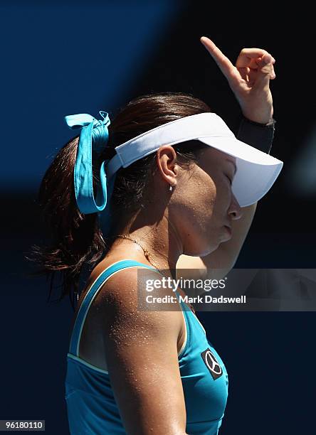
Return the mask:
<path fill-rule="evenodd" d="M 159 173 L 171 186 L 177 184 L 179 165 L 177 164 L 177 153 L 171 145 L 162 145 L 157 150 L 156 163 Z"/>

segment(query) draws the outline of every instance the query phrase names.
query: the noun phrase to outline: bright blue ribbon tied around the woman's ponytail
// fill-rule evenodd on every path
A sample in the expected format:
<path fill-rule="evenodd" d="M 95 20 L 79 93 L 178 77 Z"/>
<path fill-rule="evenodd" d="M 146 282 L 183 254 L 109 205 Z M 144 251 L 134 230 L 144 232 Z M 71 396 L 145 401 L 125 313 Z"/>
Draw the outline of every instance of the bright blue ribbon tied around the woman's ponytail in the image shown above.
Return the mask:
<path fill-rule="evenodd" d="M 92 149 L 100 153 L 107 144 L 110 125 L 110 118 L 107 112 L 100 110 L 103 119 L 95 119 L 88 113 L 68 115 L 65 122 L 70 129 L 81 129 L 78 144 L 77 157 L 75 160 L 75 171 L 73 181 L 75 186 L 75 199 L 81 213 L 98 213 L 104 210 L 107 205 L 107 176 L 105 173 L 106 161 L 100 167 L 100 189 L 97 190 L 97 198 L 93 195 L 93 166 Z M 112 185 L 115 176 L 112 177 Z M 111 186 L 112 190 L 113 186 Z M 112 193 L 112 192 L 110 192 Z"/>

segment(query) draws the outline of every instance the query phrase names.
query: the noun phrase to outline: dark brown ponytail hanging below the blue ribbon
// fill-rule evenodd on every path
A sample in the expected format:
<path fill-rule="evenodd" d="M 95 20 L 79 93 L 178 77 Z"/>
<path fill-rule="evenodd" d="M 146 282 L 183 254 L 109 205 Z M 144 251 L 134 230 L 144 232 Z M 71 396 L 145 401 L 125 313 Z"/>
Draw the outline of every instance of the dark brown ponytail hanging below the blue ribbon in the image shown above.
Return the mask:
<path fill-rule="evenodd" d="M 105 251 L 98 214 L 80 213 L 75 200 L 73 171 L 78 141 L 78 136 L 70 139 L 43 176 L 38 205 L 50 240 L 42 247 L 33 245 L 26 257 L 38 265 L 33 275 L 51 279 L 48 297 L 53 290 L 55 274 L 61 273 L 62 291 L 57 301 L 68 294 L 73 308 L 83 268 L 98 262 Z"/>

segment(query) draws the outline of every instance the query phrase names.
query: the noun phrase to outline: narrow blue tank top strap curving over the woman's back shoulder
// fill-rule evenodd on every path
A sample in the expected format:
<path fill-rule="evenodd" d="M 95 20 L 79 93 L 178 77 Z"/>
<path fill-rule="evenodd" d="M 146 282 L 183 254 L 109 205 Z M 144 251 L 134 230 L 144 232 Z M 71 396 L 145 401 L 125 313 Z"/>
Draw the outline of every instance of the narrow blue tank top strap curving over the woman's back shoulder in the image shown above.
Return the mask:
<path fill-rule="evenodd" d="M 80 305 L 77 316 L 75 318 L 75 324 L 73 326 L 73 332 L 71 334 L 71 339 L 70 339 L 69 353 L 78 356 L 80 335 L 83 330 L 83 324 L 85 323 L 85 318 L 88 314 L 90 305 L 92 304 L 93 299 L 95 299 L 95 296 L 98 294 L 98 291 L 100 290 L 102 284 L 104 284 L 105 281 L 109 279 L 110 276 L 112 276 L 112 274 L 115 274 L 115 272 L 119 271 L 120 269 L 127 269 L 129 267 L 135 267 L 135 266 L 154 269 L 154 267 L 148 266 L 147 264 L 144 263 L 137 262 L 136 260 L 123 259 L 111 264 L 109 267 L 107 267 L 105 270 L 102 271 L 102 273 L 98 276 L 97 279 L 95 279 L 92 286 L 90 286 L 90 289 L 87 291 L 87 294 L 85 294 L 85 298 L 83 299 L 83 302 Z"/>

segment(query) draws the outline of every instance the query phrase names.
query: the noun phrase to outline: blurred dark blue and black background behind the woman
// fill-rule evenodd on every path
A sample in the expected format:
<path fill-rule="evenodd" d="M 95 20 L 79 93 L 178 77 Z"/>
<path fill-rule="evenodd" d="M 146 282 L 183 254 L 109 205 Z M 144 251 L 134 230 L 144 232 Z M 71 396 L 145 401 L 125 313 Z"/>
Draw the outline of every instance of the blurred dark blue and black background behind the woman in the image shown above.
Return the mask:
<path fill-rule="evenodd" d="M 302 4 L 303 6 L 303 4 Z M 145 92 L 193 92 L 236 133 L 239 107 L 199 42 L 234 63 L 243 47 L 276 59 L 272 154 L 285 165 L 260 200 L 236 267 L 315 268 L 315 67 L 312 14 L 287 7 L 189 1 L 2 1 L 0 419 L 45 419 L 68 434 L 63 379 L 73 311 L 48 304 L 25 254 L 41 242 L 36 194 L 54 154 L 73 136 L 63 117 L 115 114 Z M 248 10 L 246 13 L 245 10 Z M 221 433 L 314 434 L 315 313 L 199 313 L 226 364 Z"/>

